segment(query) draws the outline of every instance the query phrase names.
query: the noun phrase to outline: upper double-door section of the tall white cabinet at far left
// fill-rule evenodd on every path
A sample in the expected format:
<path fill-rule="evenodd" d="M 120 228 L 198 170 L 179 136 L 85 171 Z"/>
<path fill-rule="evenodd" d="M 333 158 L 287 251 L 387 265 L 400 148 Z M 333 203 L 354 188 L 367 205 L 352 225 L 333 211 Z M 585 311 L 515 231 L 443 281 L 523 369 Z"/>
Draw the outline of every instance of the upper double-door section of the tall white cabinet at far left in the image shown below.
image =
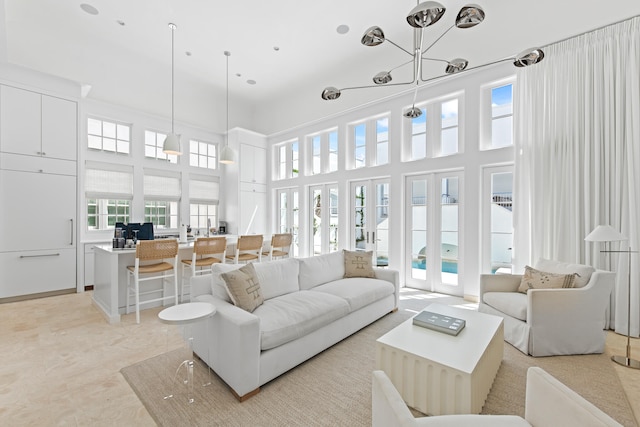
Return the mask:
<path fill-rule="evenodd" d="M 77 103 L 0 85 L 0 151 L 77 158 Z"/>

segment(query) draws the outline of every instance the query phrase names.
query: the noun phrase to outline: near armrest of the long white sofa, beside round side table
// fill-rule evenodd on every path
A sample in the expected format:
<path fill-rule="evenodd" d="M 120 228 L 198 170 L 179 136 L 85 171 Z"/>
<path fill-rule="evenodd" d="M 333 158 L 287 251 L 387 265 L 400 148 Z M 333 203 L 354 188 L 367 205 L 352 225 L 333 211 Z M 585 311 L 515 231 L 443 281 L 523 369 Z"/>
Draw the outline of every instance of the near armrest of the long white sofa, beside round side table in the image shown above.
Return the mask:
<path fill-rule="evenodd" d="M 212 295 L 197 301 L 216 306 L 207 322 L 194 325 L 194 349 L 238 397 L 259 387 L 260 318 Z"/>

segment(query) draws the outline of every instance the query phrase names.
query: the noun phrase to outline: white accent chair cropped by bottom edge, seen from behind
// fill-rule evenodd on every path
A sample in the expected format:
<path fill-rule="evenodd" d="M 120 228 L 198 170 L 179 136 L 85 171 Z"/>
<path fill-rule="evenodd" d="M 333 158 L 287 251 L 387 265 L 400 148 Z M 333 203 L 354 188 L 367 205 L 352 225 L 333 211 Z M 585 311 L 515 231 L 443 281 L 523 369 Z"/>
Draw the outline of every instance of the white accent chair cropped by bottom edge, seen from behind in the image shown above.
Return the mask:
<path fill-rule="evenodd" d="M 524 418 L 516 415 L 438 415 L 414 418 L 383 371 L 373 371 L 372 426 L 621 426 L 616 420 L 538 367 L 527 371 Z"/>

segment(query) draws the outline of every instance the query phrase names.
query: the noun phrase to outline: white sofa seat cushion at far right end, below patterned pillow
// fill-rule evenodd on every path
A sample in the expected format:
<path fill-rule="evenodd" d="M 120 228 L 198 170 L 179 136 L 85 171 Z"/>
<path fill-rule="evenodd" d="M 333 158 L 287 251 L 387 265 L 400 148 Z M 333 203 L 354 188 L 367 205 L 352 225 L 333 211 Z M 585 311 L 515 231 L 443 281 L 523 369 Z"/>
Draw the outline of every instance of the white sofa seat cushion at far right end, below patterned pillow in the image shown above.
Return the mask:
<path fill-rule="evenodd" d="M 394 290 L 394 286 L 386 280 L 354 277 L 316 286 L 312 292 L 325 292 L 343 298 L 349 304 L 350 311 L 353 312 L 386 296 L 393 295 Z"/>

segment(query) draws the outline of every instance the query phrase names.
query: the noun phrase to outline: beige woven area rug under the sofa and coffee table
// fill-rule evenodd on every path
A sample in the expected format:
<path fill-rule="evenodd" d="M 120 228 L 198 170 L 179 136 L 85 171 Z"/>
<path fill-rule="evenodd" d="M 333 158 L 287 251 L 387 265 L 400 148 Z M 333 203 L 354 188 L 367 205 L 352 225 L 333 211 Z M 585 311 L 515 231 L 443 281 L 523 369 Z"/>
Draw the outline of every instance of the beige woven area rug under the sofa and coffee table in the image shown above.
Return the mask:
<path fill-rule="evenodd" d="M 238 402 L 196 360 L 194 402 L 172 381 L 184 350 L 123 368 L 122 375 L 161 426 L 370 426 L 375 340 L 415 312 L 399 310 L 362 329 Z M 504 359 L 483 413 L 524 415 L 526 370 L 540 366 L 625 426 L 636 426 L 620 380 L 603 355 L 531 358 L 505 343 Z M 211 381 L 211 385 L 203 387 Z M 173 393 L 174 397 L 164 399 Z"/>

